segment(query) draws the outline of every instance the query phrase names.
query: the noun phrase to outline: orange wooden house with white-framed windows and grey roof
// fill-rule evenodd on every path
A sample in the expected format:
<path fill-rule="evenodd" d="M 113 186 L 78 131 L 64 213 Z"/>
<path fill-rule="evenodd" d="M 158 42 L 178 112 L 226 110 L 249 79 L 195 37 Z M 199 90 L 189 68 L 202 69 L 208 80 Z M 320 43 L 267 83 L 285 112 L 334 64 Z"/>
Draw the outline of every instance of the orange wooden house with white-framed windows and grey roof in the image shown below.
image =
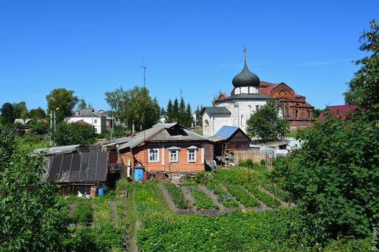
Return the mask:
<path fill-rule="evenodd" d="M 213 143 L 177 123 L 157 123 L 116 145 L 127 169 L 143 167 L 149 173 L 204 171 L 214 158 Z"/>

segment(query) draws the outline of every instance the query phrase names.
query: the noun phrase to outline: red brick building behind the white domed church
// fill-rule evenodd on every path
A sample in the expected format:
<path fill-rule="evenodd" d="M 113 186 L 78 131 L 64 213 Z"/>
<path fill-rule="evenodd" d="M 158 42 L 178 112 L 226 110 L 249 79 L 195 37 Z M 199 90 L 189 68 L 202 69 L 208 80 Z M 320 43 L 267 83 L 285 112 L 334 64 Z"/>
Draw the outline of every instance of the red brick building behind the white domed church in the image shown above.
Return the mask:
<path fill-rule="evenodd" d="M 291 129 L 312 125 L 314 107 L 305 101 L 305 96 L 296 94 L 289 85 L 283 82 L 274 84 L 261 81 L 259 92 L 279 100 L 283 117 L 289 120 Z"/>

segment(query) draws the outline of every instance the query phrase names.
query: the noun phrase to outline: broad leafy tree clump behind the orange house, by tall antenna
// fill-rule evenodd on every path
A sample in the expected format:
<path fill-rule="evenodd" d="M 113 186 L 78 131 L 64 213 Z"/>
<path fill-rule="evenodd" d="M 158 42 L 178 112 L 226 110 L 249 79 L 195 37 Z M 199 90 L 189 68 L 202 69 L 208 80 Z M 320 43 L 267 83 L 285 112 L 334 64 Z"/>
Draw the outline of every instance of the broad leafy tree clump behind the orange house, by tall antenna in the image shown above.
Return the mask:
<path fill-rule="evenodd" d="M 127 129 L 132 129 L 133 120 L 136 130 L 142 126 L 150 128 L 159 120 L 158 101 L 150 96 L 147 88 L 134 86 L 130 90 L 123 90 L 123 87 L 119 87 L 112 92 L 105 92 L 105 101 Z"/>

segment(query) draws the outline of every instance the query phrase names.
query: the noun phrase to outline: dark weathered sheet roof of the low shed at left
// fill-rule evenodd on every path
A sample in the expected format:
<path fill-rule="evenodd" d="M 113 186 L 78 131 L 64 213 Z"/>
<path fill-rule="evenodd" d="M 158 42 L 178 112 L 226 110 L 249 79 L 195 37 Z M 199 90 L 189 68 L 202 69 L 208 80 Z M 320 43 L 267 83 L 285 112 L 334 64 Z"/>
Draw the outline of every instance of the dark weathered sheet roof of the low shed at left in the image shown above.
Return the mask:
<path fill-rule="evenodd" d="M 107 180 L 107 152 L 90 151 L 48 156 L 41 182 L 61 183 Z"/>

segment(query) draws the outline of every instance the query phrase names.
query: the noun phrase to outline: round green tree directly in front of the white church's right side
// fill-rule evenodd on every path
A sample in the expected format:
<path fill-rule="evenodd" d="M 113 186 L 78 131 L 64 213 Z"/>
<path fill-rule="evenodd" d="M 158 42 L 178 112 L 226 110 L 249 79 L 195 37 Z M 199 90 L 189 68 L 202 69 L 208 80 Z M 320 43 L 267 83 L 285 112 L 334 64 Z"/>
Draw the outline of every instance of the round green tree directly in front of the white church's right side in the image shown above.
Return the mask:
<path fill-rule="evenodd" d="M 247 134 L 260 138 L 264 143 L 285 138 L 289 123 L 285 118 L 280 118 L 279 112 L 278 101 L 267 101 L 247 120 Z"/>

